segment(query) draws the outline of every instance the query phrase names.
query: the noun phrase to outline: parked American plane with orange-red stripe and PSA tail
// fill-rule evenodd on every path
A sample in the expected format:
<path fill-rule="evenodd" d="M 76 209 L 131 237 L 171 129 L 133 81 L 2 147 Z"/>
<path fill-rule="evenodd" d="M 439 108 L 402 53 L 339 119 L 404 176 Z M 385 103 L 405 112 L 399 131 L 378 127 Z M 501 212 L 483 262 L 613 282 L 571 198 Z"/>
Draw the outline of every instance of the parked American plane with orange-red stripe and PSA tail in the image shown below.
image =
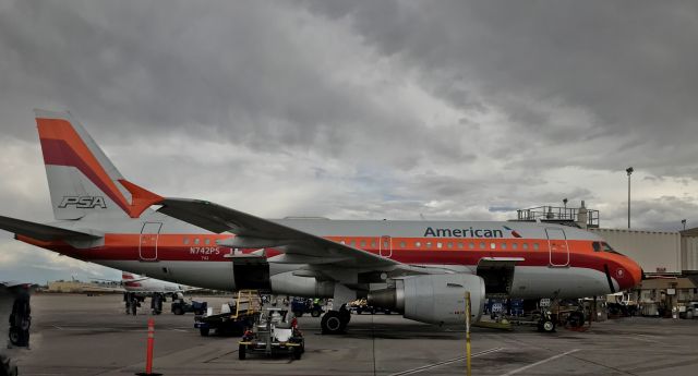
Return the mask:
<path fill-rule="evenodd" d="M 346 303 L 358 296 L 419 322 L 460 324 L 466 291 L 478 319 L 486 294 L 581 298 L 641 279 L 634 260 L 571 227 L 267 220 L 166 198 L 125 180 L 69 113 L 37 110 L 36 122 L 57 221 L 0 217 L 0 228 L 70 257 L 180 283 L 334 298 L 324 332 L 344 331 Z"/>

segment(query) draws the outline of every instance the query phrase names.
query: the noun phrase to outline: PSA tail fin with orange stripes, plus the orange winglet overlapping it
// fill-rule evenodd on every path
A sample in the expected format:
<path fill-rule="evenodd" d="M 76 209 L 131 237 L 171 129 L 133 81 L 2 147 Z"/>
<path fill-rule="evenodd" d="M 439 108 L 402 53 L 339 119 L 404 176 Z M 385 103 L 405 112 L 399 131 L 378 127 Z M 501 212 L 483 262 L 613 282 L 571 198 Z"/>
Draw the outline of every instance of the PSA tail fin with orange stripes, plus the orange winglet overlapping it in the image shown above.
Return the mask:
<path fill-rule="evenodd" d="M 35 116 L 56 219 L 91 213 L 139 218 L 163 199 L 123 179 L 70 113 L 35 110 Z"/>

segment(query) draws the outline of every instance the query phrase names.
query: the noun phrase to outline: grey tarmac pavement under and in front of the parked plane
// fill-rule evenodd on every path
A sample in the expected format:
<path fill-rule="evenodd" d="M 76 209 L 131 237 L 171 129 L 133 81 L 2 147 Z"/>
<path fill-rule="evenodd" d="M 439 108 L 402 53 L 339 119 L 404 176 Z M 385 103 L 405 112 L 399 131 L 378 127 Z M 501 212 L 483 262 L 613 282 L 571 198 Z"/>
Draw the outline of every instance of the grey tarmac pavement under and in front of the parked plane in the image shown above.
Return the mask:
<path fill-rule="evenodd" d="M 203 298 L 218 308 L 227 299 Z M 398 315 L 352 315 L 344 336 L 322 336 L 303 316 L 305 353 L 238 360 L 239 338 L 201 337 L 193 314 L 125 315 L 121 295 L 35 294 L 31 350 L 20 375 L 133 375 L 145 367 L 147 319 L 155 318 L 154 371 L 164 375 L 464 375 L 465 332 Z M 698 319 L 633 317 L 583 332 L 473 328 L 473 375 L 696 375 Z"/>

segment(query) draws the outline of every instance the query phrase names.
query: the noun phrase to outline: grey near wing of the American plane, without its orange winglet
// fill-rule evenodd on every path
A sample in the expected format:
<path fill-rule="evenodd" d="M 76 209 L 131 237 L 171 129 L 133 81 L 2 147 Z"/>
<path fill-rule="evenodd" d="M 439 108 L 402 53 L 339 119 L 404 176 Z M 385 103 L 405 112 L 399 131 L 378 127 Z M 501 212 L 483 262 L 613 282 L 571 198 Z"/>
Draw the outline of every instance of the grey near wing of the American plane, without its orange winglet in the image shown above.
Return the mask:
<path fill-rule="evenodd" d="M 269 262 L 311 264 L 359 269 L 408 267 L 396 260 L 337 243 L 272 220 L 197 199 L 165 198 L 158 211 L 206 230 L 229 231 L 236 238 L 220 245 L 240 248 L 275 247 L 284 254 Z"/>

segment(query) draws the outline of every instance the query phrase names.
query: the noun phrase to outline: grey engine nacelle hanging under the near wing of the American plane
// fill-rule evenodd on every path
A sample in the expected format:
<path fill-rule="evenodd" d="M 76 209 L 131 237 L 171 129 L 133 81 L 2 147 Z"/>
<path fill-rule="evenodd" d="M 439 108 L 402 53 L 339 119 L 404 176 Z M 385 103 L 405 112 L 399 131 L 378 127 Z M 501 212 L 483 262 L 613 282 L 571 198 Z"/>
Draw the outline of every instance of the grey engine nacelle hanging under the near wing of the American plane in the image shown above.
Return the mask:
<path fill-rule="evenodd" d="M 466 322 L 466 291 L 470 315 L 478 322 L 484 305 L 484 280 L 476 275 L 426 275 L 395 280 L 395 288 L 373 291 L 369 305 L 395 310 L 413 320 L 454 325 Z"/>

